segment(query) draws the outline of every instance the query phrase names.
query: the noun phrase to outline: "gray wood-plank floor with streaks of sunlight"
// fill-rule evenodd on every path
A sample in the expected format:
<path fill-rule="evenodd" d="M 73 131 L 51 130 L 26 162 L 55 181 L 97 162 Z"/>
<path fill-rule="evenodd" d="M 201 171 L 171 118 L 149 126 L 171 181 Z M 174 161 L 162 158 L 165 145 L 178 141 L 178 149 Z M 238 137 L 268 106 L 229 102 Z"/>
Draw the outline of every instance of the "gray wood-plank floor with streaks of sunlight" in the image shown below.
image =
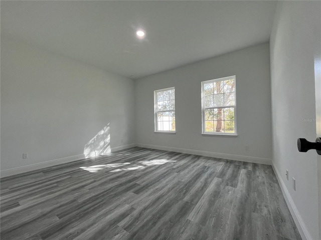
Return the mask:
<path fill-rule="evenodd" d="M 1 239 L 301 239 L 269 165 L 133 147 L 1 179 Z"/>

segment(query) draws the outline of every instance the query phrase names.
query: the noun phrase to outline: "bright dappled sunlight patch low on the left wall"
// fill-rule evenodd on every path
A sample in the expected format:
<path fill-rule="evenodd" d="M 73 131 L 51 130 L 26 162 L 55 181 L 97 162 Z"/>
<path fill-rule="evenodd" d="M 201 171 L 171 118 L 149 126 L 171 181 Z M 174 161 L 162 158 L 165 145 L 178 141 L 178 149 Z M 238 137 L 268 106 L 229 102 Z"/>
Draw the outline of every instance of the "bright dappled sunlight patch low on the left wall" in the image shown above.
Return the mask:
<path fill-rule="evenodd" d="M 84 147 L 85 158 L 105 155 L 110 149 L 110 122 L 102 128 Z"/>

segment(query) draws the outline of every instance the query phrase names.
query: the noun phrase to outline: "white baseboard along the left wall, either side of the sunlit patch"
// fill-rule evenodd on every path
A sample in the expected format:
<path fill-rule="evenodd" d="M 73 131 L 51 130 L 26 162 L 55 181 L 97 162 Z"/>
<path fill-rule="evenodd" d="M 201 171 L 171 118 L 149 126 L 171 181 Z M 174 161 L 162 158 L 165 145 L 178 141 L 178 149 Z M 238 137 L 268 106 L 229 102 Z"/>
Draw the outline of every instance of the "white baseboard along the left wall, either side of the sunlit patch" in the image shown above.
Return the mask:
<path fill-rule="evenodd" d="M 123 150 L 126 148 L 134 147 L 136 144 L 128 144 L 128 145 L 122 145 L 122 146 L 116 146 L 111 148 L 111 152 L 113 151 L 119 151 Z M 45 161 L 45 162 L 39 162 L 39 163 L 34 163 L 26 166 L 19 166 L 11 169 L 6 169 L 6 170 L 1 170 L 0 171 L 0 177 L 6 177 L 6 176 L 11 176 L 11 175 L 16 175 L 19 173 L 24 173 L 27 171 L 33 171 L 33 170 L 38 170 L 44 167 L 49 167 L 49 166 L 54 166 L 58 164 L 63 164 L 63 163 L 68 163 L 71 161 L 78 161 L 81 159 L 85 159 L 84 154 L 79 154 L 79 155 L 74 155 L 74 156 L 67 156 L 59 159 L 54 159 L 50 161 Z"/>

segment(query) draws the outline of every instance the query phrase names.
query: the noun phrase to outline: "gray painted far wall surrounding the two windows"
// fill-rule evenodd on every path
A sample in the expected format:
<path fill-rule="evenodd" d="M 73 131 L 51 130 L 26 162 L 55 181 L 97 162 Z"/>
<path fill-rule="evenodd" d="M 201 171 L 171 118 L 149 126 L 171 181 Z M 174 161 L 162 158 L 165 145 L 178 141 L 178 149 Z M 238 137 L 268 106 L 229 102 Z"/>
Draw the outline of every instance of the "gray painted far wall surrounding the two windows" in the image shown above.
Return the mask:
<path fill-rule="evenodd" d="M 214 44 L 214 43 L 213 43 Z M 269 44 L 263 43 L 135 82 L 138 145 L 211 155 L 272 157 Z M 201 81 L 236 75 L 237 137 L 202 135 Z M 154 132 L 153 91 L 175 87 L 176 134 Z M 245 146 L 249 150 L 245 150 Z M 243 157 L 242 157 L 243 156 Z M 237 158 L 237 157 L 236 157 Z"/>

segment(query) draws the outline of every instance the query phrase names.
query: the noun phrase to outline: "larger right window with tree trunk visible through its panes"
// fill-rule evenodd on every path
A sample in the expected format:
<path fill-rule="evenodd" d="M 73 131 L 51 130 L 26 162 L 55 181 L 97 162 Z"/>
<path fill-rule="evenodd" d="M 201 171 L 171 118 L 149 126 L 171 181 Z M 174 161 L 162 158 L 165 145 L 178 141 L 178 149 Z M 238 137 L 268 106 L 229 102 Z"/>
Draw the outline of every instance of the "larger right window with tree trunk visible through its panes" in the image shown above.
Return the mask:
<path fill-rule="evenodd" d="M 235 76 L 202 81 L 203 133 L 236 135 Z"/>

